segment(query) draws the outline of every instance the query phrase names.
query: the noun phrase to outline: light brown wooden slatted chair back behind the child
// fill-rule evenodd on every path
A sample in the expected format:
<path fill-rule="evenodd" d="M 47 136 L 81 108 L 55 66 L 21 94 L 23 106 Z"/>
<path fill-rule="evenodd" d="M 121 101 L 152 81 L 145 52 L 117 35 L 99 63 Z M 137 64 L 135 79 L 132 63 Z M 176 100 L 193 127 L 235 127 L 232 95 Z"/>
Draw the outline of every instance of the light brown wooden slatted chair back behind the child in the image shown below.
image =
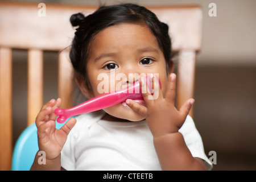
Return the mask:
<path fill-rule="evenodd" d="M 72 67 L 68 59 L 75 28 L 72 14 L 90 14 L 97 7 L 0 2 L 0 169 L 11 168 L 12 156 L 12 49 L 28 51 L 28 121 L 34 122 L 43 105 L 43 51 L 59 51 L 59 97 L 72 106 Z M 196 52 L 201 48 L 202 12 L 199 6 L 148 7 L 170 25 L 172 49 L 178 53 L 177 107 L 193 97 Z M 65 49 L 64 51 L 62 51 Z M 192 115 L 192 112 L 190 113 Z"/>

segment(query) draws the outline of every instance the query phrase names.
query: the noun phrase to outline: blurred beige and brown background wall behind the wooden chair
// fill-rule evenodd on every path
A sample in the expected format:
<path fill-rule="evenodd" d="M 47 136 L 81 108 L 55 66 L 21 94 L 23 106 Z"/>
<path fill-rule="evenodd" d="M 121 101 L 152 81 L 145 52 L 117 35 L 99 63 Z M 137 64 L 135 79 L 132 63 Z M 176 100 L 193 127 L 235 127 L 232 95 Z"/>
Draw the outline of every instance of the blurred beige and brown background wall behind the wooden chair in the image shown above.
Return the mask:
<path fill-rule="evenodd" d="M 255 0 L 56 0 L 20 2 L 67 5 L 200 5 L 203 44 L 196 63 L 194 119 L 205 153 L 216 151 L 214 170 L 256 169 L 256 1 Z M 209 3 L 217 16 L 210 17 Z M 14 142 L 26 127 L 27 53 L 13 53 Z M 57 53 L 44 53 L 44 102 L 57 98 Z M 210 155 L 208 155 L 210 157 Z"/>

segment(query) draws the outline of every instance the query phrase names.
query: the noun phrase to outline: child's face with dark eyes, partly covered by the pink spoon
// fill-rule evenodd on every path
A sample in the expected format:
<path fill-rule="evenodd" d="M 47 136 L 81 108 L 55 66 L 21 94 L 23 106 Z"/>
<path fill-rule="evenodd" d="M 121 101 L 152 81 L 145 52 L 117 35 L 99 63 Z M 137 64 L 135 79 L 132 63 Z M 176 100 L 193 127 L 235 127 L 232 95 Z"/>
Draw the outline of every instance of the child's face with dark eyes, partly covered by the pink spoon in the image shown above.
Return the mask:
<path fill-rule="evenodd" d="M 112 73 L 110 73 L 110 69 L 112 69 Z M 122 84 L 126 87 L 138 80 L 139 75 L 143 75 L 142 73 L 146 75 L 158 73 L 162 92 L 163 94 L 166 92 L 167 73 L 163 52 L 149 28 L 140 24 L 122 23 L 99 32 L 92 40 L 86 72 L 94 94 L 94 96 L 87 94 L 86 97 L 103 94 L 98 90 L 98 85 L 102 84 L 102 80 L 97 80 L 102 73 L 108 75 L 109 91 L 111 88 L 110 74 L 114 73 L 117 76 L 119 73 L 123 73 L 127 81 L 123 79 Z M 129 82 L 129 73 L 137 73 L 137 77 L 134 74 L 133 82 Z M 115 80 L 115 85 L 117 84 L 120 84 L 119 80 Z M 145 106 L 144 101 L 137 102 Z M 144 119 L 141 114 L 125 104 L 117 104 L 104 110 L 114 117 L 129 121 Z"/>

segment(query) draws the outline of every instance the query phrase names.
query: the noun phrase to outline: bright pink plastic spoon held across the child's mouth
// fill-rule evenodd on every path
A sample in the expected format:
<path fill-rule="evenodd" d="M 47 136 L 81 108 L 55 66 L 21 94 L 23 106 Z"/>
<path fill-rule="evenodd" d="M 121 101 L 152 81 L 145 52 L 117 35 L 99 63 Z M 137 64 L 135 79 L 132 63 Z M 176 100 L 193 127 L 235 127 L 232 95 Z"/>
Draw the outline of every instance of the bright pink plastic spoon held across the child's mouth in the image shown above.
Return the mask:
<path fill-rule="evenodd" d="M 158 81 L 161 88 L 160 80 Z M 146 82 L 148 88 L 150 89 L 150 93 L 152 93 L 151 77 L 147 76 Z M 73 117 L 74 115 L 101 110 L 106 107 L 125 102 L 129 98 L 132 100 L 143 100 L 141 87 L 139 86 L 139 80 L 135 81 L 133 85 L 130 85 L 127 88 L 102 94 L 101 96 L 92 98 L 70 109 L 57 108 L 55 109 L 54 113 L 59 115 L 57 122 L 64 123 L 66 119 Z"/>

